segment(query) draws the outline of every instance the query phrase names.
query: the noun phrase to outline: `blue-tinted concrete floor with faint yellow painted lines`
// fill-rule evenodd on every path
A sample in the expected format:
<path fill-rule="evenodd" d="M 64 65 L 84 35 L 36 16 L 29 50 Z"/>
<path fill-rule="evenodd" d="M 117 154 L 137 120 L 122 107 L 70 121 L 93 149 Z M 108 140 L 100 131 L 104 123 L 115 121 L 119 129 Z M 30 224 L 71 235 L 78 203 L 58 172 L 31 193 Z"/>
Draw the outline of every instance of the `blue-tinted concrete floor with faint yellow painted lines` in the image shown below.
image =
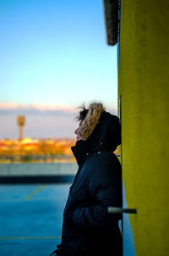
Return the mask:
<path fill-rule="evenodd" d="M 1 256 L 49 256 L 55 250 L 69 186 L 0 186 Z"/>

